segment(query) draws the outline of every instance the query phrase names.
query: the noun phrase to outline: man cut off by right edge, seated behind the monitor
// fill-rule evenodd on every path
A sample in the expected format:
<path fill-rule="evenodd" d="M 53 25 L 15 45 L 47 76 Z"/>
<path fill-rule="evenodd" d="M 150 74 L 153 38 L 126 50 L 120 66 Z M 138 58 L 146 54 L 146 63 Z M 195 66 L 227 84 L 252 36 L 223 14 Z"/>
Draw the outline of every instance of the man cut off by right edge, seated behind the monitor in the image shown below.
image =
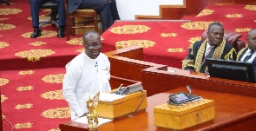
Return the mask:
<path fill-rule="evenodd" d="M 253 62 L 253 58 L 256 56 L 256 29 L 248 32 L 246 42 L 248 46 L 240 50 L 237 61 Z"/>

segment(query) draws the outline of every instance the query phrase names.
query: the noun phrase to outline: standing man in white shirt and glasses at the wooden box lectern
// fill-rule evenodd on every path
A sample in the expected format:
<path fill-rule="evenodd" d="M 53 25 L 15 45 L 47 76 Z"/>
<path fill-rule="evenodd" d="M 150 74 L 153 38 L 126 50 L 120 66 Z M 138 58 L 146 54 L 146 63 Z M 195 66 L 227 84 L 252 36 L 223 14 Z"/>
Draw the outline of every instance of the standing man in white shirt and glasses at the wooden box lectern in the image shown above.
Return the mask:
<path fill-rule="evenodd" d="M 71 120 L 87 115 L 89 95 L 111 90 L 110 62 L 101 53 L 101 36 L 89 30 L 82 36 L 82 41 L 85 52 L 66 65 L 62 82 L 62 94 L 69 103 Z"/>

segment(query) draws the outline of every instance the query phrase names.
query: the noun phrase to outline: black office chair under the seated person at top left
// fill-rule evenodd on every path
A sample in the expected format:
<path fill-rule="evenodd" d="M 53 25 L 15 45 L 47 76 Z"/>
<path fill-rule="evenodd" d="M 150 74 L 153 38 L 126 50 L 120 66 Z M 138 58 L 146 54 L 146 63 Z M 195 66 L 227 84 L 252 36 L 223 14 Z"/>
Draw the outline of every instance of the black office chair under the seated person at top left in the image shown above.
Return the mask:
<path fill-rule="evenodd" d="M 58 4 L 55 3 L 54 0 L 49 0 L 48 2 L 43 3 L 41 5 L 40 9 L 50 9 L 51 12 L 50 12 L 50 19 L 39 21 L 39 27 L 42 27 L 43 25 L 48 24 L 48 23 L 51 23 L 51 25 L 53 27 L 55 27 L 55 26 L 59 27 L 58 20 L 56 18 Z"/>

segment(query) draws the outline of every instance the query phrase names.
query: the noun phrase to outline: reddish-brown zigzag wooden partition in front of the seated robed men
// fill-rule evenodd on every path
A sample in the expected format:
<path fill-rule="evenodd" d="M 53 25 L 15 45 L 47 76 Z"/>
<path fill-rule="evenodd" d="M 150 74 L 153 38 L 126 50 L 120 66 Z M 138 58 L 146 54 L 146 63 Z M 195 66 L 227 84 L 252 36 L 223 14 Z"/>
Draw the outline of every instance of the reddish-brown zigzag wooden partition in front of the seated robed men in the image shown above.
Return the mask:
<path fill-rule="evenodd" d="M 140 57 L 142 56 L 141 51 L 138 51 L 140 49 L 142 48 L 130 47 L 108 53 L 107 56 L 111 63 L 110 74 L 142 82 L 148 96 L 190 85 L 191 88 L 256 97 L 255 83 L 213 78 L 194 71 L 175 69 L 166 65 L 119 56 L 119 54 L 126 54 L 127 56 Z M 116 87 L 119 86 L 118 84 Z"/>

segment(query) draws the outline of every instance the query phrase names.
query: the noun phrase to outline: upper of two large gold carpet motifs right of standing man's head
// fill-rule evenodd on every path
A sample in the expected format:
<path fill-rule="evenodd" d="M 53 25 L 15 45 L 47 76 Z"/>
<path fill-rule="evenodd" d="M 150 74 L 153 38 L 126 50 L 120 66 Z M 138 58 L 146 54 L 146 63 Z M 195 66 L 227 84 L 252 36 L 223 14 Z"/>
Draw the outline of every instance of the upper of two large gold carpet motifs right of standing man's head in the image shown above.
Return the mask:
<path fill-rule="evenodd" d="M 138 33 L 145 33 L 151 29 L 146 25 L 123 25 L 123 26 L 116 26 L 110 29 L 110 32 L 115 34 L 138 34 Z"/>

